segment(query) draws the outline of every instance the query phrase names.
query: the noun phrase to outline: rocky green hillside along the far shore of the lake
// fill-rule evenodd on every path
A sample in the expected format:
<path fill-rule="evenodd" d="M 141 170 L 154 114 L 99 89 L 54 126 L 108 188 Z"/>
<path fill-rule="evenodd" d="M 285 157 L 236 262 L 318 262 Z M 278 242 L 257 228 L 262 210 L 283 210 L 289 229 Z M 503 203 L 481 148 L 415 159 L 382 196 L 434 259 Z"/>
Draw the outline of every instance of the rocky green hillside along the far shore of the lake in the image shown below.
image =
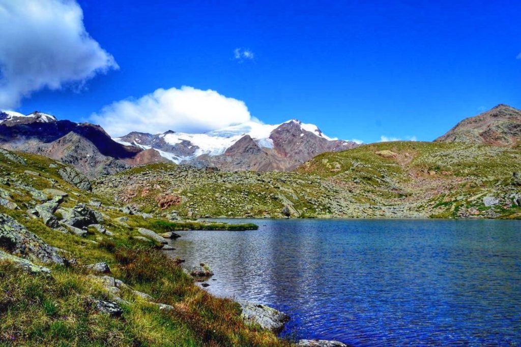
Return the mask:
<path fill-rule="evenodd" d="M 146 165 L 102 177 L 94 190 L 164 217 L 519 218 L 514 173 L 519 148 L 393 142 L 323 153 L 295 172 Z"/>

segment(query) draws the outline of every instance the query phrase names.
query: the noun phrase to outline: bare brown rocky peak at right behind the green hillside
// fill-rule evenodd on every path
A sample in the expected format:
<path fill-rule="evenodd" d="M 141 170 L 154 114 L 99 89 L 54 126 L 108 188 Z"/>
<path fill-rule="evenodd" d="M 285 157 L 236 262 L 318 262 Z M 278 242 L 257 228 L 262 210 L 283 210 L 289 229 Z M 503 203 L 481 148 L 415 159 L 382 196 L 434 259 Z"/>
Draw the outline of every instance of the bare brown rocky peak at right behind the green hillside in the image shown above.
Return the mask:
<path fill-rule="evenodd" d="M 469 142 L 513 147 L 521 143 L 521 110 L 498 105 L 456 124 L 437 142 Z"/>

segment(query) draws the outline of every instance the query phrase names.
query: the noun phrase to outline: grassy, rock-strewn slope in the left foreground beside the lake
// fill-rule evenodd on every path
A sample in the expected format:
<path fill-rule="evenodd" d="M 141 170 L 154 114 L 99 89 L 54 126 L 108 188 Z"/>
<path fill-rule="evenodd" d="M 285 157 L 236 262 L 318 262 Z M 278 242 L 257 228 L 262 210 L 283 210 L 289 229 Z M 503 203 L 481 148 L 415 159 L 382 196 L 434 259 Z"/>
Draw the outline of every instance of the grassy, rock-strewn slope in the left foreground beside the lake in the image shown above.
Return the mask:
<path fill-rule="evenodd" d="M 156 241 L 138 232 L 162 232 L 159 220 L 125 214 L 105 196 L 67 183 L 58 174 L 63 167 L 40 156 L 0 153 L 0 346 L 287 344 L 245 324 L 237 303 L 195 286 Z M 61 225 L 49 227 L 34 210 L 55 201 Z M 96 227 L 79 233 L 66 226 L 78 222 L 66 220 L 78 206 L 95 212 Z M 45 262 L 48 254 L 59 261 Z M 108 264 L 110 277 L 86 266 L 98 262 Z M 107 313 L 103 302 L 121 311 Z"/>

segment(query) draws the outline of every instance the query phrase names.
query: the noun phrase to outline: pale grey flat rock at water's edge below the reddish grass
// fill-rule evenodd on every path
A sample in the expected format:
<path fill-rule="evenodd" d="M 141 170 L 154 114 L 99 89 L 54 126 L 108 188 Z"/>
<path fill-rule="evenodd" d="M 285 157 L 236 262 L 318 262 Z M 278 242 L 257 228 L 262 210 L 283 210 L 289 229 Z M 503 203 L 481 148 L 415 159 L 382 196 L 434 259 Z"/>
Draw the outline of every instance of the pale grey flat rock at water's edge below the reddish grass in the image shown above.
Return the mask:
<path fill-rule="evenodd" d="M 269 306 L 245 300 L 239 300 L 237 302 L 241 305 L 241 317 L 246 323 L 258 324 L 264 329 L 278 332 L 281 331 L 284 328 L 284 324 L 290 320 L 287 314 L 272 309 Z"/>

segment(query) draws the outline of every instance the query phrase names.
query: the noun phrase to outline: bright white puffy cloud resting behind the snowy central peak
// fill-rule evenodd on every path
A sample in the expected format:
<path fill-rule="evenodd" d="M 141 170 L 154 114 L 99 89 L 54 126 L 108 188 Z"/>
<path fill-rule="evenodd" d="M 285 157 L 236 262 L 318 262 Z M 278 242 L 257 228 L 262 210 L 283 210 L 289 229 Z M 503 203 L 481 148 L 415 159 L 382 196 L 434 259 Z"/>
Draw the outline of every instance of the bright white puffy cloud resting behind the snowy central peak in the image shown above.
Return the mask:
<path fill-rule="evenodd" d="M 102 125 L 111 136 L 122 136 L 131 131 L 200 133 L 257 121 L 243 101 L 211 89 L 202 91 L 188 86 L 160 88 L 139 99 L 113 102 L 93 114 L 91 119 Z"/>

